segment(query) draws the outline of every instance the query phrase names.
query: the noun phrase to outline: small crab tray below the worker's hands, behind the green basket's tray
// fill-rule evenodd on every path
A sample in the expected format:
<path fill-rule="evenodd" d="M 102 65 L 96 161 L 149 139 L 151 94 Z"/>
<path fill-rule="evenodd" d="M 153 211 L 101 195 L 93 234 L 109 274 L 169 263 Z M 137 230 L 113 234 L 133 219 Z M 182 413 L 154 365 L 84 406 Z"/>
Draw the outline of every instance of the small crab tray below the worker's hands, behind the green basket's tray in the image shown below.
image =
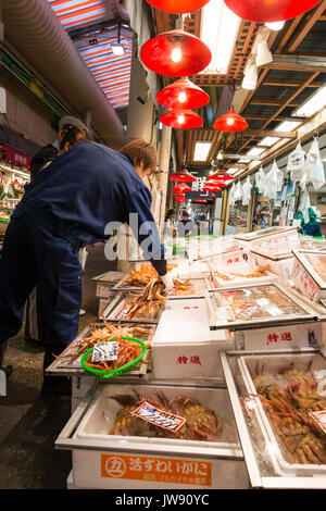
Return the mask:
<path fill-rule="evenodd" d="M 134 317 L 126 317 L 129 307 L 137 300 L 139 295 L 131 294 L 117 295 L 114 300 L 104 309 L 103 316 L 106 321 L 131 323 L 159 323 L 160 316 L 165 308 L 165 303 L 159 300 L 150 304 L 150 309 L 140 309 Z"/>

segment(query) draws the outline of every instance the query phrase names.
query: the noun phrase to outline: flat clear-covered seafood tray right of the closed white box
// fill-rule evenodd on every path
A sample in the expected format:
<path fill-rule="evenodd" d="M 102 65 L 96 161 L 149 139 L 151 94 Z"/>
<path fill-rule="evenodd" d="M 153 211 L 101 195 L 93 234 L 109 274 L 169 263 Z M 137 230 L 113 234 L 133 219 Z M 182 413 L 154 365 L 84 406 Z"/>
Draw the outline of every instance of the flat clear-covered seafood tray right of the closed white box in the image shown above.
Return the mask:
<path fill-rule="evenodd" d="M 312 307 L 278 284 L 209 289 L 210 328 L 251 329 L 321 319 Z"/>

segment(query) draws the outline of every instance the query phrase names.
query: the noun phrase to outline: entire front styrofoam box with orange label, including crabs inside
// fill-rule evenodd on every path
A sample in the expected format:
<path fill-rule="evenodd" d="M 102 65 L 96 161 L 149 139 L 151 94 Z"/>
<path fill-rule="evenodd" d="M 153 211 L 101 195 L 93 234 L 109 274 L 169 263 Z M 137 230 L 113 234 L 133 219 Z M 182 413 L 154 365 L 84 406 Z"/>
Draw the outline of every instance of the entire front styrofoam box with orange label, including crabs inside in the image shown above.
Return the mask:
<path fill-rule="evenodd" d="M 55 446 L 73 451 L 75 487 L 248 487 L 225 388 L 98 385 Z"/>

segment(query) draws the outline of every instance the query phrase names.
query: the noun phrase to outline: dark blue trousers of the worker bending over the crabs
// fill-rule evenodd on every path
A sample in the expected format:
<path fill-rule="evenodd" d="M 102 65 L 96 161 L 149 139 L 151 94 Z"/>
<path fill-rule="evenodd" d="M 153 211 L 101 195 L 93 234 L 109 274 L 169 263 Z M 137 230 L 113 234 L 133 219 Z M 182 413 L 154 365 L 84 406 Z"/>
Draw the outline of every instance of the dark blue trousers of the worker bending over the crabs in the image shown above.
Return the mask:
<path fill-rule="evenodd" d="M 16 212 L 0 257 L 0 341 L 18 333 L 35 286 L 41 340 L 46 351 L 59 354 L 78 332 L 83 294 L 78 249 L 25 212 Z"/>

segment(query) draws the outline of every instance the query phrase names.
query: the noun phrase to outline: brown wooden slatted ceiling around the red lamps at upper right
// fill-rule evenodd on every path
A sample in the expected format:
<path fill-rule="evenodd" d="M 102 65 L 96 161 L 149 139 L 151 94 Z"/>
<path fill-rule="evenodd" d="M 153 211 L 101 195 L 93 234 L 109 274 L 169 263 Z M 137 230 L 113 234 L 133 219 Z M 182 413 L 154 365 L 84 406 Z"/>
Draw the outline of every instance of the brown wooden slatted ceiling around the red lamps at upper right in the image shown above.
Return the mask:
<path fill-rule="evenodd" d="M 175 27 L 176 15 L 159 10 L 154 10 L 154 15 L 158 34 Z M 191 14 L 191 18 L 185 20 L 185 30 L 201 37 L 201 21 L 202 10 L 199 10 Z M 275 128 L 284 121 L 298 121 L 300 124 L 305 121 L 291 114 L 326 83 L 326 0 L 312 11 L 287 21 L 281 30 L 271 32 L 268 47 L 273 53 L 273 62 L 259 67 L 256 88 L 243 91 L 241 83 L 244 65 L 261 25 L 241 21 L 227 74 L 199 74 L 189 77 L 210 95 L 211 102 L 208 107 L 197 110 L 204 120 L 202 128 L 174 129 L 178 166 L 184 162 L 188 169 L 208 170 L 211 160 L 216 158 L 221 149 L 224 149 L 225 153 L 246 154 L 265 137 L 273 136 Z M 297 55 L 304 57 L 305 62 L 299 63 Z M 316 58 L 322 58 L 321 65 L 317 65 Z M 165 86 L 172 82 L 172 78 L 164 77 Z M 231 87 L 235 100 L 241 98 L 235 107 L 237 113 L 243 115 L 249 124 L 249 128 L 237 136 L 212 128 L 217 111 L 217 116 L 226 113 L 218 109 L 226 87 Z M 224 110 L 227 110 L 225 105 Z M 299 124 L 296 128 L 298 127 Z M 293 130 L 277 135 L 285 141 L 296 137 Z M 195 145 L 200 140 L 213 142 L 205 162 L 193 161 Z M 239 164 L 237 160 L 226 157 L 223 164 L 233 169 L 247 167 L 246 164 Z"/>

